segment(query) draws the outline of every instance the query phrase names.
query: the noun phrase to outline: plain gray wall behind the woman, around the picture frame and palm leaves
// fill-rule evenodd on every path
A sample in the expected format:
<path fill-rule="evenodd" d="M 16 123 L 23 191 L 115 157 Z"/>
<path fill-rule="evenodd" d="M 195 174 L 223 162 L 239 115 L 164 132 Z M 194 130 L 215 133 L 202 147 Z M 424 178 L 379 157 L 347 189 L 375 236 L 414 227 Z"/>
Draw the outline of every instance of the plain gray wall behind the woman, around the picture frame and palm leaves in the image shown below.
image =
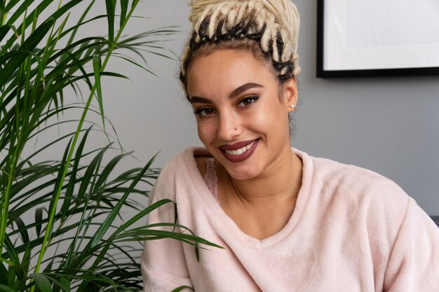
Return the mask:
<path fill-rule="evenodd" d="M 182 31 L 165 46 L 180 54 L 189 32 L 188 1 L 144 1 L 130 34 L 165 25 Z M 302 19 L 301 102 L 292 145 L 313 156 L 359 165 L 396 181 L 428 214 L 439 215 L 439 78 L 316 78 L 316 1 L 297 0 Z M 145 55 L 160 78 L 123 65 L 132 81 L 107 82 L 106 112 L 123 146 L 156 167 L 187 146 L 201 145 L 177 81 L 176 60 Z M 114 66 L 122 66 L 117 62 Z"/>

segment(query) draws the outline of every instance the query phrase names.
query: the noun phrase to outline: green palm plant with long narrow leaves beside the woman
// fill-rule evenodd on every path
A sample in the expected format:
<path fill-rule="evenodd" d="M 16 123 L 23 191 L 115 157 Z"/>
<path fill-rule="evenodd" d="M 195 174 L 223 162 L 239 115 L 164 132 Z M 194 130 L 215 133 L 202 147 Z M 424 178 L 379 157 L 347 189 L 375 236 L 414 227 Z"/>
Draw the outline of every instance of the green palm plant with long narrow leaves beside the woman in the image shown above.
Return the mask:
<path fill-rule="evenodd" d="M 104 115 L 101 78 L 126 76 L 106 70 L 110 57 L 142 67 L 114 52 L 126 48 L 140 54 L 146 47 L 163 55 L 151 37 L 173 32 L 153 29 L 123 38 L 137 3 L 106 0 L 106 13 L 90 16 L 94 0 L 0 0 L 0 291 L 139 291 L 139 242 L 171 237 L 195 249 L 200 243 L 216 246 L 176 223 L 136 227 L 150 211 L 173 204 L 137 203 L 146 201 L 158 175 L 153 159 L 116 174 L 129 153 L 116 147 L 120 153 L 112 156 L 111 142 L 88 148 L 92 131 L 112 141 L 105 130 L 111 123 Z M 70 25 L 73 9 L 79 8 L 79 20 Z M 107 21 L 106 37 L 78 37 L 79 29 L 97 20 Z M 80 83 L 88 97 L 67 102 L 83 90 Z M 77 109 L 80 118 L 60 118 Z M 86 127 L 90 112 L 100 115 L 102 125 Z M 29 147 L 65 123 L 74 123 L 76 130 Z M 65 148 L 62 158 L 38 160 L 53 145 Z M 123 210 L 135 216 L 122 221 Z M 157 228 L 163 226 L 187 232 Z"/>

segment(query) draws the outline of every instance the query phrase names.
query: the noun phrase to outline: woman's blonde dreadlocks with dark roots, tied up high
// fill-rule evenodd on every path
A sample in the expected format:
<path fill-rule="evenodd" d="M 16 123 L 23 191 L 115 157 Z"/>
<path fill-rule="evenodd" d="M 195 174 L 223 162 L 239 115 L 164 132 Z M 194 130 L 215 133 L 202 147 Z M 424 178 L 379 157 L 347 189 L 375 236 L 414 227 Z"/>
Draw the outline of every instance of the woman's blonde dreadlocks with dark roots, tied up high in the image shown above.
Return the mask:
<path fill-rule="evenodd" d="M 271 61 L 280 83 L 299 74 L 299 13 L 291 0 L 191 0 L 190 6 L 193 29 L 180 70 L 184 90 L 187 70 L 203 48 L 250 50 Z"/>

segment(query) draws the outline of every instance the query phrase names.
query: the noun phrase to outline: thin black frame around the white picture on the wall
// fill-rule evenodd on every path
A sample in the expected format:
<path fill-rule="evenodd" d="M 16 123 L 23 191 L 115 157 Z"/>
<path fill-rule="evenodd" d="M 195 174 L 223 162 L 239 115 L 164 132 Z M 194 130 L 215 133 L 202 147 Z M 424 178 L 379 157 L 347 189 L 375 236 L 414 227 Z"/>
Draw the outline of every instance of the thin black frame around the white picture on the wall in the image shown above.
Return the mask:
<path fill-rule="evenodd" d="M 439 67 L 420 67 L 403 69 L 358 69 L 358 70 L 325 70 L 323 27 L 325 25 L 325 0 L 317 0 L 317 74 L 318 78 L 327 77 L 370 77 L 370 76 L 417 76 L 439 75 Z"/>

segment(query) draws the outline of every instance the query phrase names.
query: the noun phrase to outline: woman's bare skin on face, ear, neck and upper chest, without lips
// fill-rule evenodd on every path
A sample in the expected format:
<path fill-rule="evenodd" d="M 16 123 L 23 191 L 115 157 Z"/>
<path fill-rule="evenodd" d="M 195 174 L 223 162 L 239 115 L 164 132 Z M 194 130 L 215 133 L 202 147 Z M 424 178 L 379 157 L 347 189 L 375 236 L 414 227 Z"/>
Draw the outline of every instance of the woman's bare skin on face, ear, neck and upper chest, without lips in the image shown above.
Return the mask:
<path fill-rule="evenodd" d="M 276 234 L 294 211 L 302 181 L 302 160 L 290 149 L 288 127 L 290 105 L 297 102 L 295 78 L 279 85 L 269 64 L 251 53 L 216 50 L 192 62 L 187 92 L 198 137 L 219 162 L 222 209 L 247 235 Z M 255 151 L 242 162 L 227 160 L 219 149 L 252 140 Z M 202 175 L 204 159 L 197 160 Z"/>

